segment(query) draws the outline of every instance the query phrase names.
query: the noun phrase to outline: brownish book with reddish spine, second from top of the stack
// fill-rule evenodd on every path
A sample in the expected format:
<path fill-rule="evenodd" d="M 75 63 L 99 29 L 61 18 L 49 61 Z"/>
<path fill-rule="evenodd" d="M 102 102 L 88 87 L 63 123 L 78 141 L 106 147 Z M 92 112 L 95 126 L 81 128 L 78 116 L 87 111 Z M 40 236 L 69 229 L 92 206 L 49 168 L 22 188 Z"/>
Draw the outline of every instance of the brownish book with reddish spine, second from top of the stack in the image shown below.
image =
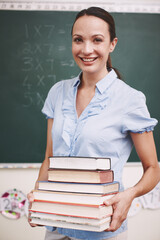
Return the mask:
<path fill-rule="evenodd" d="M 114 172 L 112 170 L 70 170 L 53 169 L 48 170 L 48 181 L 57 182 L 84 182 L 84 183 L 107 183 L 113 182 Z"/>

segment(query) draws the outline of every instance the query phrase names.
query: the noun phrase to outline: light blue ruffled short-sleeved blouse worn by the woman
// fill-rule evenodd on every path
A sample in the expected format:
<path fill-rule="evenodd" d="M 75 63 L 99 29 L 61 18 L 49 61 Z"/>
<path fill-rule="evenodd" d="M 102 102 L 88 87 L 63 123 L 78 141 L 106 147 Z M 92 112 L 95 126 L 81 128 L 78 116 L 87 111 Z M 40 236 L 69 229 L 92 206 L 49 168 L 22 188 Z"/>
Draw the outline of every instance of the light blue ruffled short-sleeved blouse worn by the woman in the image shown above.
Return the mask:
<path fill-rule="evenodd" d="M 76 93 L 80 75 L 56 83 L 48 93 L 42 112 L 54 118 L 55 156 L 109 157 L 115 181 L 122 186 L 122 170 L 131 153 L 129 132 L 152 131 L 157 120 L 150 117 L 145 96 L 122 80 L 112 69 L 96 84 L 95 96 L 80 115 Z M 116 232 L 88 232 L 59 228 L 61 234 L 85 240 L 110 238 L 126 230 L 126 221 Z"/>

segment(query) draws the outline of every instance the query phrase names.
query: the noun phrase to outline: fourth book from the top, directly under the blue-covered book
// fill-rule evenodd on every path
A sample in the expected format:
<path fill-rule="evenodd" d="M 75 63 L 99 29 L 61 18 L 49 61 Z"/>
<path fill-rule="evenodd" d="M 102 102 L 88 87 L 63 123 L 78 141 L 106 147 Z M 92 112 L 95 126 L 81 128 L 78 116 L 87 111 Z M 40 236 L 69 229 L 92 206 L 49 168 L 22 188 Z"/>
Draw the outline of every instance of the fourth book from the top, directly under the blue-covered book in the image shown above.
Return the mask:
<path fill-rule="evenodd" d="M 113 197 L 113 194 L 86 194 L 86 193 L 65 193 L 51 191 L 33 191 L 35 201 L 50 201 L 55 203 L 70 203 L 82 205 L 102 205 L 104 201 Z"/>

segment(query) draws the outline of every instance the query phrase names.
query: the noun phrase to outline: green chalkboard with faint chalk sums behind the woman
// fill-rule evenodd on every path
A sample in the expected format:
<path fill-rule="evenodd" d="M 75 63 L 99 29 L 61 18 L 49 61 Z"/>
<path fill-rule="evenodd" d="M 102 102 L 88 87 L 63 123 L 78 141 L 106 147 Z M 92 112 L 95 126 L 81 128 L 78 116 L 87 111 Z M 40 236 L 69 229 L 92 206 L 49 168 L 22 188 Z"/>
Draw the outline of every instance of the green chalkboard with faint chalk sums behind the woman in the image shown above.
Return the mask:
<path fill-rule="evenodd" d="M 79 73 L 71 54 L 76 12 L 0 11 L 1 163 L 44 159 L 46 119 L 41 113 L 51 86 Z M 160 15 L 113 13 L 119 38 L 112 63 L 124 80 L 144 92 L 160 119 Z M 160 127 L 154 132 L 157 150 Z M 138 158 L 133 152 L 129 161 Z"/>

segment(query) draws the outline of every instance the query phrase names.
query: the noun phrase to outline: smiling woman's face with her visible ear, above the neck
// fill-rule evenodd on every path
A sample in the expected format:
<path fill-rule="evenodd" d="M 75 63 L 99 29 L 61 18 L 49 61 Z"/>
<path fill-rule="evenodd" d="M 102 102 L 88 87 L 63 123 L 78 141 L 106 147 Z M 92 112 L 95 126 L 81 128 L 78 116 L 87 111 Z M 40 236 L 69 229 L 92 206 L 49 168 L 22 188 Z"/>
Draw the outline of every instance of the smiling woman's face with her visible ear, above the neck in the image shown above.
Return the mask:
<path fill-rule="evenodd" d="M 106 75 L 108 55 L 115 48 L 108 24 L 94 16 L 82 16 L 73 26 L 72 54 L 75 62 L 85 73 Z"/>

